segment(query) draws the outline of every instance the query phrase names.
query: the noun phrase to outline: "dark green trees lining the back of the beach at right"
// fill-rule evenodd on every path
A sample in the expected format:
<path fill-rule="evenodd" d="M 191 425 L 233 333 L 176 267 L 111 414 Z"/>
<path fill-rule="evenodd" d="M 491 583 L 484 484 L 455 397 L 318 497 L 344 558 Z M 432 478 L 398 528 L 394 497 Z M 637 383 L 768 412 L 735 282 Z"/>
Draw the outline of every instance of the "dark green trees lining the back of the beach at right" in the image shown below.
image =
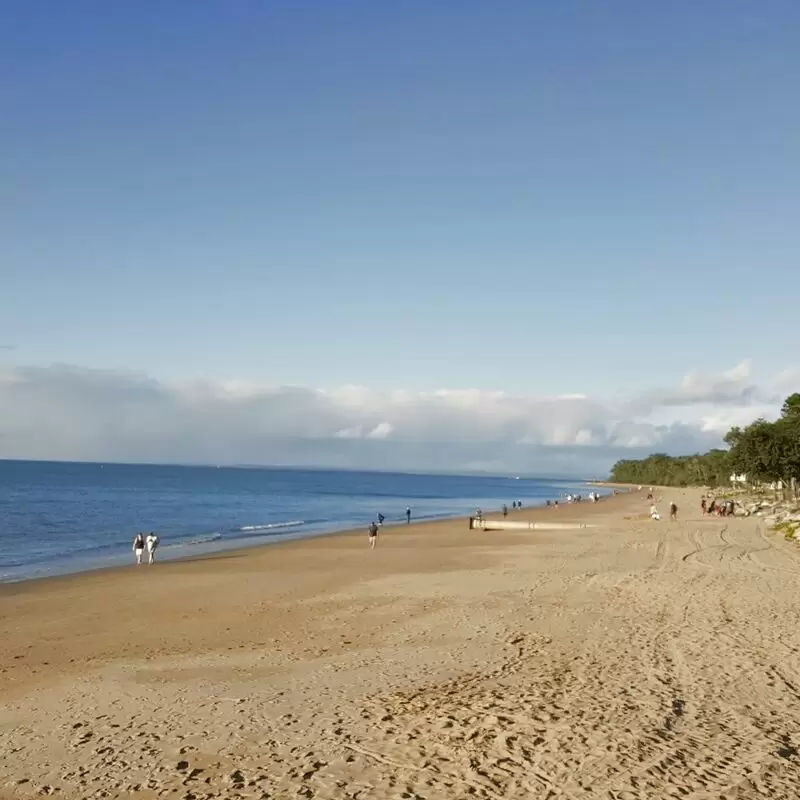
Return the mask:
<path fill-rule="evenodd" d="M 774 422 L 757 419 L 725 435 L 727 450 L 714 449 L 691 456 L 654 453 L 647 458 L 622 459 L 611 468 L 616 483 L 659 486 L 722 486 L 730 476 L 746 475 L 748 483 L 800 480 L 800 392 L 786 398 Z"/>

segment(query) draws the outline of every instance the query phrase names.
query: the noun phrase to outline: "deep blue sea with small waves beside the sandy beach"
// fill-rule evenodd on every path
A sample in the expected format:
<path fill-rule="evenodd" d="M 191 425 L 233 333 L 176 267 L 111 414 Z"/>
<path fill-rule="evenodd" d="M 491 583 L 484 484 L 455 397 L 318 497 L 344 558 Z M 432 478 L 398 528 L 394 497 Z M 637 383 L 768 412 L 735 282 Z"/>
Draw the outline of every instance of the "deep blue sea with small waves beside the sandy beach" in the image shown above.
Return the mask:
<path fill-rule="evenodd" d="M 541 505 L 578 481 L 345 470 L 0 461 L 0 582 L 132 560 L 137 531 L 160 559 L 364 528 Z"/>

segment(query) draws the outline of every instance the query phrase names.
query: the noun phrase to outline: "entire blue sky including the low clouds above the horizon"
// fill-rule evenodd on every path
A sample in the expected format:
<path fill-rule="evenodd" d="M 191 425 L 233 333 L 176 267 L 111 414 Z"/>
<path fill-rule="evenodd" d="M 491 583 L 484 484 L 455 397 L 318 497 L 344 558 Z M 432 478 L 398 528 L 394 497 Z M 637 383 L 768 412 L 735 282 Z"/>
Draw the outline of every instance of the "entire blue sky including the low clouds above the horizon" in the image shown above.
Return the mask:
<path fill-rule="evenodd" d="M 9 0 L 0 457 L 602 472 L 800 389 L 800 5 Z"/>

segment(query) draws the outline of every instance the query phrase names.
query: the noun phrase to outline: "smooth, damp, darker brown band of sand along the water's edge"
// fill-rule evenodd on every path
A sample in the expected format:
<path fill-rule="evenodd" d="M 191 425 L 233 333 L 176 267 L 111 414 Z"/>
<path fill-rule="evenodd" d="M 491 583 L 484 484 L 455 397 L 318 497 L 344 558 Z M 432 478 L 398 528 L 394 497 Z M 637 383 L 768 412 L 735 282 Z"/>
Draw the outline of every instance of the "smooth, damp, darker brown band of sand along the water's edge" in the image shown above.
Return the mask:
<path fill-rule="evenodd" d="M 599 503 L 523 508 L 510 511 L 509 519 L 603 522 L 619 519 L 641 502 L 636 495 L 619 494 Z M 152 567 L 131 563 L 0 584 L 3 684 L 13 689 L 20 681 L 24 685 L 60 679 L 87 664 L 120 657 L 127 661 L 213 651 L 226 637 L 212 618 L 225 620 L 223 629 L 235 647 L 247 647 L 253 631 L 243 623 L 252 620 L 252 613 L 240 616 L 240 610 L 251 604 L 264 609 L 265 598 L 281 616 L 292 616 L 296 609 L 285 604 L 300 596 L 357 586 L 381 575 L 457 571 L 465 559 L 480 568 L 484 557 L 492 560 L 496 546 L 563 535 L 470 531 L 468 520 L 412 521 L 384 528 L 375 552 L 368 550 L 366 528 L 350 529 L 157 562 Z M 172 628 L 176 621 L 178 627 Z M 126 633 L 136 635 L 121 642 Z M 80 646 L 73 653 L 76 634 Z"/>

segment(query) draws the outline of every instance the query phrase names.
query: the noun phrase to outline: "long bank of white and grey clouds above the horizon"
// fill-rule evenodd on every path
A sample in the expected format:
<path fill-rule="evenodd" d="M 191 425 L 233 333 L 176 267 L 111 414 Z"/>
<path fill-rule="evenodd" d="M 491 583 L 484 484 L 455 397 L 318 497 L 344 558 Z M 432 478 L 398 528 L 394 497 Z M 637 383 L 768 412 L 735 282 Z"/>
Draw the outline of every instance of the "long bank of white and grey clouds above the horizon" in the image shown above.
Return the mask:
<path fill-rule="evenodd" d="M 719 446 L 798 388 L 798 370 L 756 386 L 749 361 L 615 402 L 0 367 L 0 457 L 603 475 L 618 458 Z"/>

